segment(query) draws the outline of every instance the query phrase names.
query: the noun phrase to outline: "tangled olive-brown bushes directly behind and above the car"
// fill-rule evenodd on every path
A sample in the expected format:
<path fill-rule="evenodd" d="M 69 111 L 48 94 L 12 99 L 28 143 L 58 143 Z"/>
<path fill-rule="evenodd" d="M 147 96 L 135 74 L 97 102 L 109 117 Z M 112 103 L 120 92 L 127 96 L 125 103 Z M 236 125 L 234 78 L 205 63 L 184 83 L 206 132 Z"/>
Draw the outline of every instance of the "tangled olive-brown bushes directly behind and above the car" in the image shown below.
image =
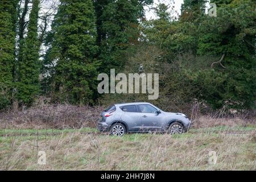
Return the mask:
<path fill-rule="evenodd" d="M 191 54 L 176 57 L 172 63 L 162 56 L 162 49 L 148 44 L 136 47 L 135 53 L 126 55 L 127 63 L 123 73 L 139 73 L 139 67 L 143 65 L 143 73 L 159 74 L 159 98 L 150 100 L 152 104 L 159 106 L 166 111 L 188 112 L 189 102 L 193 101 L 200 88 L 196 83 L 191 83 L 189 76 L 184 69 L 192 68 L 197 70 L 201 60 Z M 190 60 L 190 61 L 188 61 Z M 196 63 L 195 63 L 196 62 Z M 139 73 L 140 74 L 140 73 Z M 140 83 L 141 86 L 141 83 Z M 148 95 L 151 94 L 106 94 L 101 99 L 102 105 L 111 105 L 125 102 L 148 102 Z"/>

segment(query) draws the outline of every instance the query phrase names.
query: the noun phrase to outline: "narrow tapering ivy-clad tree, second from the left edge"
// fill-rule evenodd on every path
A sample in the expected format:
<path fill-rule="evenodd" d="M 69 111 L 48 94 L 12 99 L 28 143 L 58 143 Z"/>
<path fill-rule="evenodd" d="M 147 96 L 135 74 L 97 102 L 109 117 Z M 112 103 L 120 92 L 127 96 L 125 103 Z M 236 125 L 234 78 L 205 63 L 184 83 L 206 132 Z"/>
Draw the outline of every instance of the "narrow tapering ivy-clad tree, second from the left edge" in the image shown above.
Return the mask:
<path fill-rule="evenodd" d="M 40 0 L 32 1 L 32 10 L 29 16 L 27 36 L 19 54 L 18 92 L 16 97 L 20 104 L 31 105 L 40 92 L 39 87 L 39 39 L 38 39 L 38 13 Z"/>

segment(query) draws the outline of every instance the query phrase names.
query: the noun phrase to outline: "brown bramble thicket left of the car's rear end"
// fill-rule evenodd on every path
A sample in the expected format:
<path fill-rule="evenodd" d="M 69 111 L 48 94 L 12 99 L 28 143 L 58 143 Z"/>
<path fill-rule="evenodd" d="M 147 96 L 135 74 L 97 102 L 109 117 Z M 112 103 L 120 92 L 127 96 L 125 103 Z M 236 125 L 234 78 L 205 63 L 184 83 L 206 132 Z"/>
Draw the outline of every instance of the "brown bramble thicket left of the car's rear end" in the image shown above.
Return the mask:
<path fill-rule="evenodd" d="M 44 105 L 0 113 L 0 128 L 80 129 L 94 127 L 103 107 Z"/>

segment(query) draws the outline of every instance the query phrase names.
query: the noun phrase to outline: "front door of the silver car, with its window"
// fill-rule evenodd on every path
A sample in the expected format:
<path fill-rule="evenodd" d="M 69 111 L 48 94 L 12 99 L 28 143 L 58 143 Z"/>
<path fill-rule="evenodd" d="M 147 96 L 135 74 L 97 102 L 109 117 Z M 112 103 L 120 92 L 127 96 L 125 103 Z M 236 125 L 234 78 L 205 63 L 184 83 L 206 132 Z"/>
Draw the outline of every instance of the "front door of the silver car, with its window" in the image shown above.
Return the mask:
<path fill-rule="evenodd" d="M 161 129 L 161 113 L 157 113 L 158 110 L 155 107 L 143 104 L 138 105 L 138 110 L 141 114 L 141 125 L 143 130 Z"/>

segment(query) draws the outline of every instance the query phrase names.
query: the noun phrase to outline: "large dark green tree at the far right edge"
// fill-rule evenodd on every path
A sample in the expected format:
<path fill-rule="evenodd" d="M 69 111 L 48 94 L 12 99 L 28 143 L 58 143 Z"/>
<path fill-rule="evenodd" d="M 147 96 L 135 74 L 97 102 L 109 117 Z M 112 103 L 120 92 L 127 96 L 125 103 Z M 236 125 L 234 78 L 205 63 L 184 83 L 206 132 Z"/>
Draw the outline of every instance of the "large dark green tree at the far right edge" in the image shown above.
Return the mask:
<path fill-rule="evenodd" d="M 217 17 L 201 20 L 197 53 L 216 56 L 217 60 L 210 70 L 196 73 L 196 80 L 204 83 L 201 97 L 213 106 L 228 102 L 233 107 L 248 108 L 256 100 L 254 4 L 225 2 L 218 7 Z"/>

